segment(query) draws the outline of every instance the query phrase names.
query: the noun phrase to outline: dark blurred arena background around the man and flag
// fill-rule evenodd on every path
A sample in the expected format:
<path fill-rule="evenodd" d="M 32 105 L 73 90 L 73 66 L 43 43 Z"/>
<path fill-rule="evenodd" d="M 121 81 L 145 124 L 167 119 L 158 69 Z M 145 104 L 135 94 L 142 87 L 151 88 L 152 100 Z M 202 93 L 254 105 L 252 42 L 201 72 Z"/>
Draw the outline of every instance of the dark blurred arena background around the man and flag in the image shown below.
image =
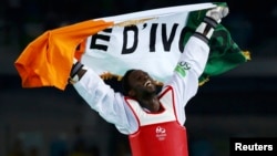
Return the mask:
<path fill-rule="evenodd" d="M 22 89 L 13 66 L 49 29 L 205 0 L 3 0 L 0 6 L 0 155 L 129 156 L 127 137 L 69 86 Z M 230 137 L 277 137 L 277 2 L 226 0 L 223 20 L 252 61 L 201 86 L 186 107 L 191 156 L 226 156 Z"/>

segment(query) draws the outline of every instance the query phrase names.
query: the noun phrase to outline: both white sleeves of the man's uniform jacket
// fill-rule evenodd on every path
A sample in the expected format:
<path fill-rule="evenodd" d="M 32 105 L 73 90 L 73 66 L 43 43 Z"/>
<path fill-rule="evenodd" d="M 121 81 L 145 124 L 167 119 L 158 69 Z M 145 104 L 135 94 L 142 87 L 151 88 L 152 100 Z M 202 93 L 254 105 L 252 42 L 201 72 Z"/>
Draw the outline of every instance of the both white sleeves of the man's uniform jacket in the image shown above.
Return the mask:
<path fill-rule="evenodd" d="M 176 115 L 179 123 L 185 123 L 184 108 L 197 92 L 198 77 L 205 69 L 208 53 L 209 46 L 205 42 L 191 37 L 178 61 L 178 64 L 186 67 L 185 73 L 181 74 L 182 70 L 181 72 L 175 70 L 173 76 L 164 83 L 164 86 L 171 85 L 174 90 Z M 137 131 L 137 121 L 124 96 L 114 92 L 94 71 L 89 69 L 83 77 L 74 84 L 74 89 L 91 108 L 105 121 L 114 124 L 122 134 L 129 135 Z"/>

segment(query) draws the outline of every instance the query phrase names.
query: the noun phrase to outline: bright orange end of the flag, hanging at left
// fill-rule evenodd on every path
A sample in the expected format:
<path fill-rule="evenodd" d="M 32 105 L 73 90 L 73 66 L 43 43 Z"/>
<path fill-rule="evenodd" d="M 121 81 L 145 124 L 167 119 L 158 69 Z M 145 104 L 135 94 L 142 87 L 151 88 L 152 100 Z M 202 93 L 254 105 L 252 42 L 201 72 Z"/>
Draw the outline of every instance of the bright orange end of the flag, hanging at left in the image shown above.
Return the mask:
<path fill-rule="evenodd" d="M 111 25 L 113 22 L 90 20 L 44 32 L 16 61 L 22 86 L 64 90 L 76 46 L 85 38 Z"/>

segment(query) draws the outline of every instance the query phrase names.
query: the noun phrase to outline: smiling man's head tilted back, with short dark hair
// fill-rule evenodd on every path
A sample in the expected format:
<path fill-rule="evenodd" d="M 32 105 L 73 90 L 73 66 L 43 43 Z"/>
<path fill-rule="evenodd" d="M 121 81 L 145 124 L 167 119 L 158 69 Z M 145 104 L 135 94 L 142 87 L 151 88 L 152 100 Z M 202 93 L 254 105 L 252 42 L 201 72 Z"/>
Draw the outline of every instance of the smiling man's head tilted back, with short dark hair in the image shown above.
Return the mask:
<path fill-rule="evenodd" d="M 129 75 L 129 83 L 133 96 L 143 97 L 156 93 L 155 81 L 144 71 L 135 70 Z"/>

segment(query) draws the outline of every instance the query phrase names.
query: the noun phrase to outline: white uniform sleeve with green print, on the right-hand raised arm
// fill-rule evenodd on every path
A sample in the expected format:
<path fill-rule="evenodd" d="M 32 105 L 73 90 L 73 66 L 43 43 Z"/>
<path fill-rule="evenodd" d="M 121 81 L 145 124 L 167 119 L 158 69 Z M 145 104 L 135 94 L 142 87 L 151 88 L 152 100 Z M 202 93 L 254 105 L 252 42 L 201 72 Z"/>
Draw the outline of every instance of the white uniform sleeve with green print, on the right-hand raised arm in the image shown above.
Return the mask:
<path fill-rule="evenodd" d="M 175 111 L 181 124 L 185 122 L 184 107 L 198 90 L 198 77 L 203 73 L 209 46 L 201 39 L 191 37 L 185 45 L 173 77 L 165 85 L 171 85 L 175 93 Z"/>

